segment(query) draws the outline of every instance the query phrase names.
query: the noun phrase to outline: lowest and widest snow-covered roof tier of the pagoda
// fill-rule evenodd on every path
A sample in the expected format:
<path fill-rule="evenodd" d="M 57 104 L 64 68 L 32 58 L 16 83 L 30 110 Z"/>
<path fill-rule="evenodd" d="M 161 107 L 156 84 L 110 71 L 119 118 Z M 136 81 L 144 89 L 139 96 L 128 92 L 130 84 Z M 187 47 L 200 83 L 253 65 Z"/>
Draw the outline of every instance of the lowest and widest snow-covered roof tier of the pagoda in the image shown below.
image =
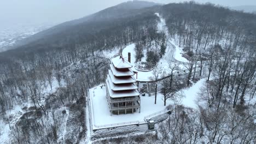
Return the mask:
<path fill-rule="evenodd" d="M 113 91 L 110 89 L 110 85 L 108 80 L 106 80 L 108 93 L 111 98 L 122 98 L 122 97 L 136 97 L 139 95 L 139 92 L 137 89 L 135 90 L 126 90 L 126 91 Z"/>

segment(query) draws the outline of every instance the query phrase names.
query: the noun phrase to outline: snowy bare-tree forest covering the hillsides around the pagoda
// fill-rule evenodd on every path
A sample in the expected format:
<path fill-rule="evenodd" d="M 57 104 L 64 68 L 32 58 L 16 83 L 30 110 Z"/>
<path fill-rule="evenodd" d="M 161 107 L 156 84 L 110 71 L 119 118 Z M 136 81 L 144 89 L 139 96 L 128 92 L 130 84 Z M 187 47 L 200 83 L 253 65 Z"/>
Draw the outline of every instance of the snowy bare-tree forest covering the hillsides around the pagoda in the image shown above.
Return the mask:
<path fill-rule="evenodd" d="M 0 53 L 0 143 L 256 143 L 256 15 L 194 2 L 125 4 Z M 149 70 L 141 74 L 152 105 L 171 113 L 154 117 L 147 133 L 91 131 L 88 90 L 127 46 L 136 68 Z"/>

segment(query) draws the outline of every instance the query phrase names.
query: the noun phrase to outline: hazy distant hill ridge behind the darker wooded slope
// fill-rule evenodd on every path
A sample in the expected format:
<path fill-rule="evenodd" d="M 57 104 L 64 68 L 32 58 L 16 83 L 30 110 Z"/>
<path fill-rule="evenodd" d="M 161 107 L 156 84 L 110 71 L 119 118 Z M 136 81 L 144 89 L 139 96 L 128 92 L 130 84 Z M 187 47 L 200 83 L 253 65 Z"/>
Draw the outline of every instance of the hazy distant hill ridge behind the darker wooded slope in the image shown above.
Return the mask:
<path fill-rule="evenodd" d="M 49 28 L 46 31 L 39 32 L 32 37 L 21 41 L 17 47 L 19 47 L 19 45 L 25 45 L 29 43 L 50 43 L 50 40 L 53 40 L 53 38 L 55 40 L 56 38 L 59 38 L 60 35 L 62 36 L 60 37 L 60 39 L 63 40 L 66 39 L 63 38 L 63 36 L 67 37 L 68 35 L 73 35 L 74 37 L 76 37 L 76 35 L 81 32 L 83 32 L 83 34 L 94 33 L 95 31 L 90 31 L 91 29 L 94 29 L 92 25 L 97 25 L 97 29 L 100 30 L 101 27 L 103 27 L 102 25 L 104 25 L 104 23 L 106 22 L 114 22 L 115 20 L 121 19 L 122 17 L 132 17 L 133 15 L 137 15 L 138 13 L 143 13 L 139 9 L 153 7 L 154 5 L 159 4 L 145 1 L 130 1 L 126 3 L 121 3 L 114 7 L 99 11 L 98 13 L 85 16 L 78 20 L 61 23 L 60 25 Z M 65 31 L 64 35 L 63 31 Z M 82 37 L 84 37 L 84 35 Z"/>

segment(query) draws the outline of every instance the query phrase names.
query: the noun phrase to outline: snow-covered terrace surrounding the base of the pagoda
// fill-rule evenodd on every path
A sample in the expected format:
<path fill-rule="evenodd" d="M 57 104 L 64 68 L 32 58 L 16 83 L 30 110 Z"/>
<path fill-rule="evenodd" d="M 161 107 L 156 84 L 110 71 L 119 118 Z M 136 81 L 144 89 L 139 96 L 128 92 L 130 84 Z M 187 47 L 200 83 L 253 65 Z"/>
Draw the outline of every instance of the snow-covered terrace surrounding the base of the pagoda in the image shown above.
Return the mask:
<path fill-rule="evenodd" d="M 91 104 L 92 104 L 92 118 L 95 125 L 106 125 L 115 123 L 125 123 L 133 121 L 144 121 L 144 117 L 151 115 L 152 113 L 159 112 L 165 109 L 162 95 L 158 94 L 157 103 L 154 104 L 155 97 L 148 95 L 141 96 L 141 112 L 138 110 L 133 114 L 127 115 L 110 115 L 108 102 L 106 97 L 106 87 L 97 86 L 90 89 Z M 167 100 L 167 105 L 172 101 Z"/>

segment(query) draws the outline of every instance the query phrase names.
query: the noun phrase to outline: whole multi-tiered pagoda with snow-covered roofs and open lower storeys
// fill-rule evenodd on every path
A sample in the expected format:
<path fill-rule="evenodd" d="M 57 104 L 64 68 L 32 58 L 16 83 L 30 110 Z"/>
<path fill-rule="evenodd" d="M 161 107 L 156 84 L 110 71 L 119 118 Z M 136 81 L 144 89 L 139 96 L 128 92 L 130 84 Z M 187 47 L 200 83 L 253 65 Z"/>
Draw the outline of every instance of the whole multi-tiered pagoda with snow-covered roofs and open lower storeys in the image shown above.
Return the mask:
<path fill-rule="evenodd" d="M 133 113 L 137 110 L 140 112 L 141 99 L 130 61 L 122 56 L 112 58 L 111 61 L 106 80 L 107 100 L 111 115 Z"/>

